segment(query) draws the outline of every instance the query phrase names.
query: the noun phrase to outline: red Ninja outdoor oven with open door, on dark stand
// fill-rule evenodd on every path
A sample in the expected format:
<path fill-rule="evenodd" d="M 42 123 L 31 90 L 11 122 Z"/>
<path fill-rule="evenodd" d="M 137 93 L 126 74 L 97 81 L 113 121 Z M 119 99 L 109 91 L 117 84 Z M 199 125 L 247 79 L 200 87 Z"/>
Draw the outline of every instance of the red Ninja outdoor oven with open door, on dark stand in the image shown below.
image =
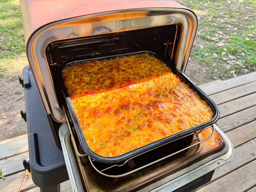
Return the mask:
<path fill-rule="evenodd" d="M 184 75 L 198 25 L 193 11 L 171 0 L 20 5 L 29 60 L 20 78 L 29 142 L 23 163 L 41 191 L 58 191 L 68 179 L 73 191 L 193 191 L 230 161 L 233 146 L 212 124 L 124 162 L 97 162 L 82 150 L 63 94 L 61 70 L 71 61 L 151 51 Z"/>

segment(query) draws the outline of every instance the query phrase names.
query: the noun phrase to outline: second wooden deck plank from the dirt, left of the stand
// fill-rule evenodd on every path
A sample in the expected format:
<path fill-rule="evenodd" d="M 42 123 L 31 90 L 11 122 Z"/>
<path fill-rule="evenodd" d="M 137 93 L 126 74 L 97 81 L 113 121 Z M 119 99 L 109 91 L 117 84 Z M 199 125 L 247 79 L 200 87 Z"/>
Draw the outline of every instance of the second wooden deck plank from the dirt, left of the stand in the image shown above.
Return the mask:
<path fill-rule="evenodd" d="M 28 159 L 28 152 L 19 154 L 14 157 L 3 159 L 0 161 L 0 168 L 2 168 L 2 175 L 9 176 L 17 172 L 24 171 L 23 159 Z"/>

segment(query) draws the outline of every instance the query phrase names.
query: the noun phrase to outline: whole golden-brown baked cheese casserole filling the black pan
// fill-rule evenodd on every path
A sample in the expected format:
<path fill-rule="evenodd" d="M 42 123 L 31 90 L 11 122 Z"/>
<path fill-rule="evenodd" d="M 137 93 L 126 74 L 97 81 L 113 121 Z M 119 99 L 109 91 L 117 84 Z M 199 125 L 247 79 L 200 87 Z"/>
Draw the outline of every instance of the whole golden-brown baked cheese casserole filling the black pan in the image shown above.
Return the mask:
<path fill-rule="evenodd" d="M 142 59 L 138 59 L 139 57 Z M 86 68 L 86 63 L 81 64 L 82 66 L 75 65 L 74 73 L 79 72 L 83 80 L 72 86 L 70 85 L 72 79 L 76 81 L 79 78 L 75 77 L 77 75 L 72 75 L 71 68 L 74 65 L 65 70 L 70 73 L 69 78 L 65 78 L 68 74 L 63 77 L 72 95 L 72 104 L 87 145 L 100 156 L 120 156 L 211 120 L 212 108 L 202 101 L 165 63 L 152 57 L 144 54 L 104 61 L 105 63 L 118 61 L 118 66 L 122 69 L 123 65 L 128 68 L 127 64 L 132 64 L 132 59 L 135 58 L 134 65 L 140 66 L 138 69 L 134 65 L 130 66 L 131 69 L 127 73 L 121 70 L 121 77 L 114 69 L 106 74 L 103 71 L 105 79 L 113 76 L 111 81 L 116 82 L 113 90 L 110 84 L 101 88 L 102 84 L 99 82 L 102 82 L 102 74 L 99 73 L 97 77 L 94 73 L 94 70 L 99 67 L 104 70 L 101 61 L 87 63 L 92 70 L 89 71 L 90 68 L 87 68 L 88 71 L 84 73 L 80 73 L 77 69 Z M 145 63 L 145 61 L 150 61 L 150 63 Z M 93 63 L 97 63 L 98 66 L 93 67 Z M 112 65 L 115 64 L 107 64 L 107 69 L 110 69 L 108 67 Z M 148 69 L 151 66 L 152 73 Z M 87 72 L 93 74 L 94 78 L 98 78 L 99 82 L 95 80 L 91 85 L 96 91 L 93 88 L 84 89 L 87 84 L 82 82 L 85 81 L 84 79 L 89 80 Z M 112 72 L 113 75 L 111 75 Z M 150 74 L 143 74 L 143 72 Z M 139 79 L 136 80 L 134 74 L 139 76 Z M 132 80 L 127 82 L 129 75 Z M 122 82 L 123 79 L 125 83 Z"/>

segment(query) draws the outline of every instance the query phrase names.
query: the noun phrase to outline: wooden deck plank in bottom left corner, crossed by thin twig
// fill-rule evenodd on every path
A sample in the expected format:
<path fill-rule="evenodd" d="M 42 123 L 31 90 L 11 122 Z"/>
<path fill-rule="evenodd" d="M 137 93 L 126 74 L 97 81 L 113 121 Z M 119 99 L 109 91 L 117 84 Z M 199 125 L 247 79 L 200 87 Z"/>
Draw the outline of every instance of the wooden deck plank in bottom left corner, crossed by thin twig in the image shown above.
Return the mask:
<path fill-rule="evenodd" d="M 16 173 L 14 175 L 5 177 L 5 179 L 0 179 L 0 189 L 4 192 L 15 192 L 18 191 L 20 188 L 20 185 L 22 184 L 23 179 L 25 178 L 26 171 Z M 32 189 L 36 187 L 35 184 L 32 181 L 31 174 L 28 175 L 22 192 L 27 191 L 29 189 Z"/>

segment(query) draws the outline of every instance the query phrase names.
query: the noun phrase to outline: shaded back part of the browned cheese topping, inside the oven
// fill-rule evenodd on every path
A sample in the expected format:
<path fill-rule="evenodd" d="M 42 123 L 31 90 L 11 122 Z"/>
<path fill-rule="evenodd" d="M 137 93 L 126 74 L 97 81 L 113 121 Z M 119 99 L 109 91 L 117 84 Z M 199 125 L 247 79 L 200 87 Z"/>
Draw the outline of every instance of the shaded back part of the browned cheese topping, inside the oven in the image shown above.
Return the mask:
<path fill-rule="evenodd" d="M 145 82 L 171 70 L 148 54 L 74 64 L 62 76 L 71 99 Z"/>

